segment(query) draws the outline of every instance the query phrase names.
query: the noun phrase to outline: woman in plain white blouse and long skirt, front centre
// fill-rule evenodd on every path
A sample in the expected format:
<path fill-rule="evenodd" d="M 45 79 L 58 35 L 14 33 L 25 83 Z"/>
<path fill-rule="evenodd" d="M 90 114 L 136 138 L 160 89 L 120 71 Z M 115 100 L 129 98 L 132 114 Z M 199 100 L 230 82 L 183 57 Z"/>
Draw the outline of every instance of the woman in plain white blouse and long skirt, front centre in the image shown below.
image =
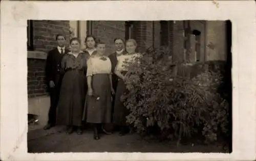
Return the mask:
<path fill-rule="evenodd" d="M 88 97 L 86 102 L 86 119 L 94 125 L 94 139 L 98 140 L 99 128 L 102 123 L 111 123 L 112 86 L 111 61 L 104 56 L 105 44 L 96 44 L 97 52 L 88 60 L 87 84 Z"/>

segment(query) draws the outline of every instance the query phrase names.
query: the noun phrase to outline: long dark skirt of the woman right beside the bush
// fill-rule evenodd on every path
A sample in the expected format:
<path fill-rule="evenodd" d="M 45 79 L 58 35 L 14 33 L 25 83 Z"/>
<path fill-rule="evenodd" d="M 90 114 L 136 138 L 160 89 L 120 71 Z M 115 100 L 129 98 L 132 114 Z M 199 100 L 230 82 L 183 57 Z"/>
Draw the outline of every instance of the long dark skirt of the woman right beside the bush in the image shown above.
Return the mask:
<path fill-rule="evenodd" d="M 125 72 L 123 73 L 125 74 Z M 115 125 L 125 126 L 126 123 L 126 116 L 129 115 L 129 110 L 124 106 L 123 102 L 121 101 L 121 96 L 126 91 L 126 85 L 122 79 L 117 84 L 116 95 L 115 95 L 115 105 L 114 105 L 114 116 L 113 122 Z"/>

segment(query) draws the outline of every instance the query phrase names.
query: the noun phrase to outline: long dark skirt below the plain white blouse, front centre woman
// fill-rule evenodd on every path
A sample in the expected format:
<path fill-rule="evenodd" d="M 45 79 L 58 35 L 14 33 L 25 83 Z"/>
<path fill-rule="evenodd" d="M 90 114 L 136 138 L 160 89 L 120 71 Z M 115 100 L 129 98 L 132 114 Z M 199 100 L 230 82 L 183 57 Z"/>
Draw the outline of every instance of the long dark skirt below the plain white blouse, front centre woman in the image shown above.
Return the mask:
<path fill-rule="evenodd" d="M 87 122 L 110 123 L 112 103 L 109 74 L 93 75 L 92 88 L 93 96 L 87 96 L 85 103 Z"/>

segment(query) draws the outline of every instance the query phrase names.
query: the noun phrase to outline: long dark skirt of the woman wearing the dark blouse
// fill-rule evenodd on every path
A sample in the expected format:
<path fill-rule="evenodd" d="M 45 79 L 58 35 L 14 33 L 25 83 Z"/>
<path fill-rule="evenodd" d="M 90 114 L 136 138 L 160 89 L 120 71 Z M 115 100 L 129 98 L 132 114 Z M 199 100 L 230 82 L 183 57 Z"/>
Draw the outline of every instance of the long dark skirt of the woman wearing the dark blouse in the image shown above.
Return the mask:
<path fill-rule="evenodd" d="M 79 70 L 65 73 L 60 89 L 57 124 L 82 125 L 82 112 L 87 92 L 86 75 Z"/>

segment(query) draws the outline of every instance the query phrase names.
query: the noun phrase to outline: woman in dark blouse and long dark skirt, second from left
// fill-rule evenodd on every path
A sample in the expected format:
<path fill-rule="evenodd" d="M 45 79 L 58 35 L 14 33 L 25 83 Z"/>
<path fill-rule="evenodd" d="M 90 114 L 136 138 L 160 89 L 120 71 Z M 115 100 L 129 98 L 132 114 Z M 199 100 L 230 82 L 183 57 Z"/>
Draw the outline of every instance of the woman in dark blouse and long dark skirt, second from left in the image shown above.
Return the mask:
<path fill-rule="evenodd" d="M 60 89 L 57 110 L 57 124 L 66 125 L 68 134 L 77 127 L 78 135 L 82 134 L 82 112 L 87 93 L 86 72 L 89 55 L 80 51 L 80 40 L 70 41 L 71 52 L 62 58 L 61 68 L 65 72 Z"/>

